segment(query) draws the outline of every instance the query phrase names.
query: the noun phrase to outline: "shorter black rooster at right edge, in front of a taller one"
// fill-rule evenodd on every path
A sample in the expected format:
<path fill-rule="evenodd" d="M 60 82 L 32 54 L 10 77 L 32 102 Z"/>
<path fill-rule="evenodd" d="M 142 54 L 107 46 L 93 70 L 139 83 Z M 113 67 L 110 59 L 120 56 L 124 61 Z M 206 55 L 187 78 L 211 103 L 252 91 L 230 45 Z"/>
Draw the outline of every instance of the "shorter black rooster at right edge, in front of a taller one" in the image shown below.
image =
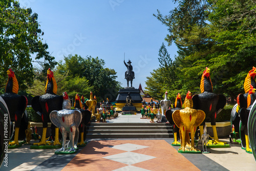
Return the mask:
<path fill-rule="evenodd" d="M 239 95 L 240 111 L 238 112 L 241 120 L 240 125 L 240 139 L 242 148 L 245 148 L 246 152 L 252 153 L 249 138 L 248 138 L 248 118 L 253 102 L 255 101 L 255 91 L 251 85 L 247 97 L 244 94 Z"/>

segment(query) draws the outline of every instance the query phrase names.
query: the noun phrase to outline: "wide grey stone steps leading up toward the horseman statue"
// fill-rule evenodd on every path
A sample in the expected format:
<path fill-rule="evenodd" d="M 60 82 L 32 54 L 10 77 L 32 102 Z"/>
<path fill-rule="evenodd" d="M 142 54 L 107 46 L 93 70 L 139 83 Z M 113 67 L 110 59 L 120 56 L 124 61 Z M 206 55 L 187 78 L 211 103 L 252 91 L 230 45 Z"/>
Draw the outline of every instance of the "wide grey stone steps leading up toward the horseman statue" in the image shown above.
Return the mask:
<path fill-rule="evenodd" d="M 87 129 L 87 138 L 173 138 L 169 123 L 95 123 Z"/>

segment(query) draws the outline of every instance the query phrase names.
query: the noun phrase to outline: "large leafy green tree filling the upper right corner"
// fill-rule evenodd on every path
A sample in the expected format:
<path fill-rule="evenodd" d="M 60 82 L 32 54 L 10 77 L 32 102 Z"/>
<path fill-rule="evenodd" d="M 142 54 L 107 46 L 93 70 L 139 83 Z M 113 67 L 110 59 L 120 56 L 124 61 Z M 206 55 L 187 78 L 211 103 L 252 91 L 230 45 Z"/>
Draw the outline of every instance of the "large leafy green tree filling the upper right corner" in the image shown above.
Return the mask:
<path fill-rule="evenodd" d="M 175 1 L 179 5 L 163 16 L 168 45 L 179 51 L 182 89 L 198 92 L 205 67 L 211 70 L 214 91 L 232 98 L 244 93 L 243 82 L 255 63 L 255 3 L 250 1 Z"/>

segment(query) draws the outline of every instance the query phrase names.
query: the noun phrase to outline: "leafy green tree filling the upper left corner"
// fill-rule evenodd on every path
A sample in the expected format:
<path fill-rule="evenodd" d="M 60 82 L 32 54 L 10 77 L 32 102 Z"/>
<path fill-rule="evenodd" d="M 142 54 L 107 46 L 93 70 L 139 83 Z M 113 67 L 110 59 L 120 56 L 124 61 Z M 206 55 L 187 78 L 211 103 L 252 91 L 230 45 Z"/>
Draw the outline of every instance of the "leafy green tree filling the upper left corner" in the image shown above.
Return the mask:
<path fill-rule="evenodd" d="M 37 17 L 31 8 L 21 8 L 15 0 L 0 2 L 0 87 L 5 86 L 9 68 L 15 72 L 21 90 L 33 82 L 32 54 L 35 59 L 54 60 L 47 52 L 48 45 L 42 42 L 44 32 Z"/>

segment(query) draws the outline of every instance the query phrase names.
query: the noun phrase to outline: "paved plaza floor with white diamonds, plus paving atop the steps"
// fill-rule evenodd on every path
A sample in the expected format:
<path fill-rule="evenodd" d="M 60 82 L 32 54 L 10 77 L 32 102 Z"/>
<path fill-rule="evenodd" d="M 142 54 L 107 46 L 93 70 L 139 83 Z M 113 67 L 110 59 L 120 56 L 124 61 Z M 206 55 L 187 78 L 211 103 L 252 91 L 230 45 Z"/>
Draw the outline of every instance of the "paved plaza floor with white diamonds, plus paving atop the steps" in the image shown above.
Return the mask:
<path fill-rule="evenodd" d="M 149 122 L 137 115 L 119 115 L 110 123 Z M 252 154 L 239 144 L 211 148 L 209 154 L 180 154 L 167 139 L 87 139 L 74 155 L 54 155 L 55 149 L 8 149 L 8 167 L 0 170 L 255 170 Z M 221 141 L 229 141 L 221 139 Z"/>

